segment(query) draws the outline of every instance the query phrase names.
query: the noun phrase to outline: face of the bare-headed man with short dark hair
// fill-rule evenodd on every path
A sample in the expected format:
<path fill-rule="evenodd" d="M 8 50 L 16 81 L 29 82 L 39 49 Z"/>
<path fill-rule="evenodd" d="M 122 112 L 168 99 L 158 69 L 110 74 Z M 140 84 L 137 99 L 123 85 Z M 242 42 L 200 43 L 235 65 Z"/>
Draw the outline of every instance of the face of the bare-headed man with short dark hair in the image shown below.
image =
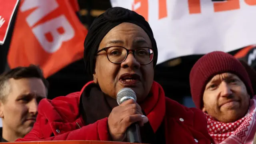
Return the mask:
<path fill-rule="evenodd" d="M 38 103 L 46 98 L 46 87 L 39 78 L 10 79 L 8 95 L 0 103 L 0 117 L 6 130 L 25 136 L 36 122 Z"/>

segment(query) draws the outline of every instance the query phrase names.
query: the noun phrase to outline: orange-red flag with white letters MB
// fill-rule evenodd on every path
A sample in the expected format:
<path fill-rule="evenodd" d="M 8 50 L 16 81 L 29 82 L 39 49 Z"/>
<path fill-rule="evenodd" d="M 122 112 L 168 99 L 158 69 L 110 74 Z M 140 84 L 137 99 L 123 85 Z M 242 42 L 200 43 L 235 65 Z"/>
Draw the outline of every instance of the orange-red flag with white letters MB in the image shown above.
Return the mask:
<path fill-rule="evenodd" d="M 48 77 L 83 57 L 86 28 L 77 0 L 21 0 L 8 53 L 10 68 L 36 64 Z"/>

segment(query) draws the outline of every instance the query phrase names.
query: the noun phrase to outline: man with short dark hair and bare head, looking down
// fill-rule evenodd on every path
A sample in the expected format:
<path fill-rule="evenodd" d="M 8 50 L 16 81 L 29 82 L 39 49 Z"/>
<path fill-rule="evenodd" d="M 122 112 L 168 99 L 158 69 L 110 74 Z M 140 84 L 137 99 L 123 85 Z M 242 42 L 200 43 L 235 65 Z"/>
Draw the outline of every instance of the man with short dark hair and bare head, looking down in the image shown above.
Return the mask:
<path fill-rule="evenodd" d="M 23 138 L 36 122 L 38 103 L 46 98 L 48 82 L 35 65 L 17 67 L 0 76 L 0 142 Z"/>

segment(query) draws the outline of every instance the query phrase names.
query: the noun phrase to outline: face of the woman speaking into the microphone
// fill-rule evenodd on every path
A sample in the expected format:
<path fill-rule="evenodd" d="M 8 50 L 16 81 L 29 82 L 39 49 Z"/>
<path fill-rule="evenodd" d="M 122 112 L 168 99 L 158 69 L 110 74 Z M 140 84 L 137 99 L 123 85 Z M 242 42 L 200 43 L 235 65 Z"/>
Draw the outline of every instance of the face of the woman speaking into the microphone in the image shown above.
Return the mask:
<path fill-rule="evenodd" d="M 109 46 L 122 46 L 128 50 L 139 47 L 152 48 L 148 34 L 139 26 L 126 22 L 112 28 L 100 42 L 98 50 Z M 141 102 L 148 95 L 153 78 L 153 62 L 140 64 L 132 52 L 129 52 L 126 60 L 120 64 L 110 62 L 106 51 L 98 53 L 94 82 L 99 84 L 102 92 L 112 98 L 116 98 L 122 88 L 131 88 L 136 93 L 137 102 Z"/>

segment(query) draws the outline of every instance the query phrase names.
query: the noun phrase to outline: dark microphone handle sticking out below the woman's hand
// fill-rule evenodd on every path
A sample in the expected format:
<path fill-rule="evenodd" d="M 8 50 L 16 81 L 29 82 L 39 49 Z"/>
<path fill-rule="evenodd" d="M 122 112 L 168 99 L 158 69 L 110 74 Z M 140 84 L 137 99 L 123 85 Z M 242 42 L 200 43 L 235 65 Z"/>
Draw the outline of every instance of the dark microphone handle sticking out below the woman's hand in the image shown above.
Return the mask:
<path fill-rule="evenodd" d="M 138 123 L 131 124 L 126 130 L 126 135 L 129 142 L 141 143 L 140 126 Z"/>

